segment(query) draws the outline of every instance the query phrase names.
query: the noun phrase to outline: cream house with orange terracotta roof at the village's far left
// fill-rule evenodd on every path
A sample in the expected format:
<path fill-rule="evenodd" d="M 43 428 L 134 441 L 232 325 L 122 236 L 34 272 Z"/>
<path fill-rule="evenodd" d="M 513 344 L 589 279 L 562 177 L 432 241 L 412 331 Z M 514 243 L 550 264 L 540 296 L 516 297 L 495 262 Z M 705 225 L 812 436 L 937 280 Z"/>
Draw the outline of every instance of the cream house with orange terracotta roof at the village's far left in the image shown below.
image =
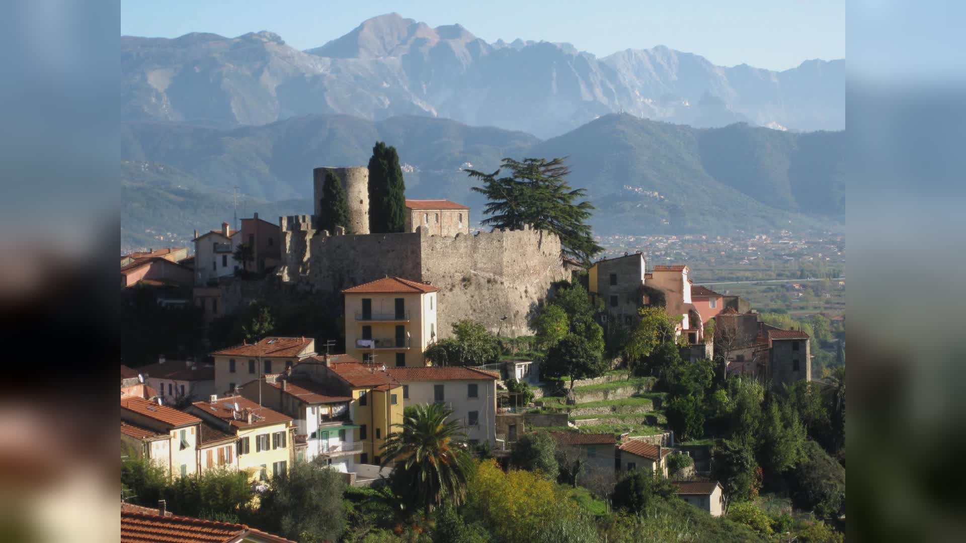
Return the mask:
<path fill-rule="evenodd" d="M 201 419 L 197 416 L 158 405 L 144 398 L 128 396 L 121 399 L 121 420 L 161 436 L 170 436 L 167 469 L 172 476 L 185 476 L 198 471 L 197 449 Z M 163 465 L 162 459 L 157 460 Z"/>

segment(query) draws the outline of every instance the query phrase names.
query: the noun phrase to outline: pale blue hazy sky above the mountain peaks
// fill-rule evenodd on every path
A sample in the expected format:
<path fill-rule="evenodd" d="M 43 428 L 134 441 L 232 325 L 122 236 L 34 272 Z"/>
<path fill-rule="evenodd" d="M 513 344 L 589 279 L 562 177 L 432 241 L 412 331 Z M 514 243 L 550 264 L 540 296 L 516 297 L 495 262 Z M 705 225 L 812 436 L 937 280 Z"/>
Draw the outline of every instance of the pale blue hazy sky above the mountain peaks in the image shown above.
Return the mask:
<path fill-rule="evenodd" d="M 491 43 L 499 38 L 569 42 L 597 56 L 661 44 L 720 66 L 745 63 L 772 70 L 845 56 L 843 0 L 122 0 L 121 33 L 235 37 L 270 30 L 293 47 L 308 49 L 390 12 L 430 26 L 460 23 Z"/>

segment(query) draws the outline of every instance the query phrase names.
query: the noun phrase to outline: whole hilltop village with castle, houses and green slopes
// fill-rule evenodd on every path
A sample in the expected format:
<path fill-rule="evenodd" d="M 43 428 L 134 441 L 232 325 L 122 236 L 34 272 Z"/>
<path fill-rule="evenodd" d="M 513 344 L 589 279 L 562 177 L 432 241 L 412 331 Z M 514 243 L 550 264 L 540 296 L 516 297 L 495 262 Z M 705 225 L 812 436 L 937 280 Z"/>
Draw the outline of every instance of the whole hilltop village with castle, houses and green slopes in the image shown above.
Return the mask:
<path fill-rule="evenodd" d="M 471 234 L 481 212 L 446 199 L 387 212 L 367 167 L 312 173 L 312 214 L 215 217 L 193 247 L 122 256 L 129 326 L 155 338 L 121 365 L 122 529 L 369 541 L 432 531 L 433 514 L 459 532 L 469 516 L 440 520 L 446 503 L 500 510 L 488 470 L 560 498 L 543 511 L 561 523 L 643 510 L 628 489 L 644 485 L 691 522 L 733 519 L 707 529 L 739 539 L 843 524 L 843 381 L 813 371 L 801 325 L 699 284 L 673 253 L 582 259 L 529 222 Z M 452 443 L 426 454 L 466 455 L 474 477 L 406 478 L 426 421 Z M 188 500 L 189 480 L 236 494 Z M 322 506 L 306 481 L 347 489 L 351 512 L 294 519 Z M 763 492 L 787 510 L 755 505 Z M 371 525 L 361 511 L 389 496 L 414 516 Z"/>

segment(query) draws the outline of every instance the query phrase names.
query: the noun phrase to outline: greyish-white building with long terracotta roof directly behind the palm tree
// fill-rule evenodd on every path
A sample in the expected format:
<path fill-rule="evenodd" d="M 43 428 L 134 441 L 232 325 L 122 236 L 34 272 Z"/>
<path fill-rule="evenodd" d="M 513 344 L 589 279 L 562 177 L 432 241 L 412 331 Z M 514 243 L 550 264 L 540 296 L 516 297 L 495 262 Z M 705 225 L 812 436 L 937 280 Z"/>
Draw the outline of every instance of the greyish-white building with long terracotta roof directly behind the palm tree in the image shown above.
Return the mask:
<path fill-rule="evenodd" d="M 469 443 L 497 443 L 497 373 L 465 366 L 390 367 L 403 406 L 440 403 L 460 420 Z"/>

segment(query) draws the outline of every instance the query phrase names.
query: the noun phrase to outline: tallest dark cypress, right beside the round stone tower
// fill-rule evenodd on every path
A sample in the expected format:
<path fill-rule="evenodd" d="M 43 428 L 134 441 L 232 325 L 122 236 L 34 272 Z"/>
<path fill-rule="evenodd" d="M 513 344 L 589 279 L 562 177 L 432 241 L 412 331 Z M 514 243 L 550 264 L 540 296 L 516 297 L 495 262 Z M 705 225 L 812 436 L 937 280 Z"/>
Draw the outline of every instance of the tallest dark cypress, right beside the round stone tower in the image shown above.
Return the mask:
<path fill-rule="evenodd" d="M 396 148 L 376 142 L 369 158 L 369 232 L 402 232 L 406 227 L 406 184 Z"/>

